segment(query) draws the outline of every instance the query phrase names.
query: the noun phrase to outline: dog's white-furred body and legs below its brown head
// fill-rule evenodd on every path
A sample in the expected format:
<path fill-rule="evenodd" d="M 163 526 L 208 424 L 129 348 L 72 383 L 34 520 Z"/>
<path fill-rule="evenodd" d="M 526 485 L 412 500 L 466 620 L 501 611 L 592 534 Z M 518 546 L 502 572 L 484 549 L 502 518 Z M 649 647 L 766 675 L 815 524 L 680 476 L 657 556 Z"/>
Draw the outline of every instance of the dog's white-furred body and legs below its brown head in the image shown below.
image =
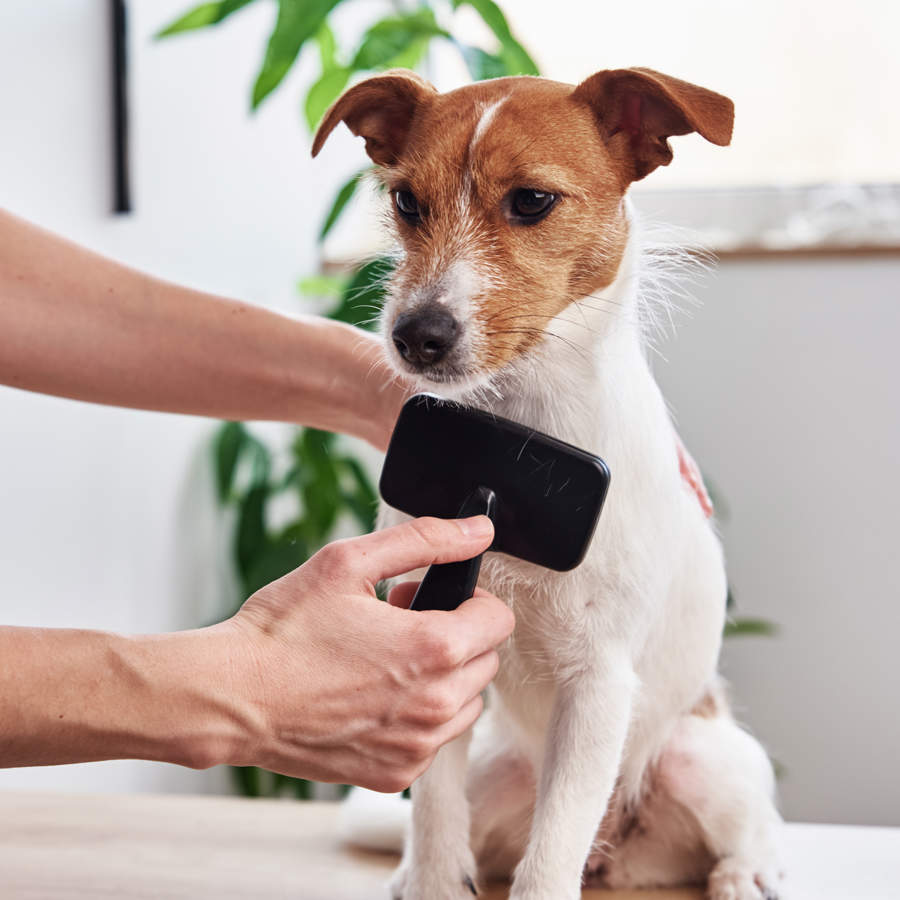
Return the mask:
<path fill-rule="evenodd" d="M 574 571 L 486 557 L 480 584 L 510 604 L 516 630 L 471 749 L 470 735 L 447 745 L 413 787 L 395 897 L 461 900 L 466 877 L 514 870 L 513 900 L 573 900 L 586 864 L 613 887 L 708 875 L 713 900 L 775 896 L 769 761 L 726 710 L 686 712 L 721 690 L 725 574 L 646 359 L 629 219 L 613 284 L 557 316 L 489 390 L 457 394 L 601 455 L 613 480 Z M 614 792 L 632 827 L 595 846 Z"/>

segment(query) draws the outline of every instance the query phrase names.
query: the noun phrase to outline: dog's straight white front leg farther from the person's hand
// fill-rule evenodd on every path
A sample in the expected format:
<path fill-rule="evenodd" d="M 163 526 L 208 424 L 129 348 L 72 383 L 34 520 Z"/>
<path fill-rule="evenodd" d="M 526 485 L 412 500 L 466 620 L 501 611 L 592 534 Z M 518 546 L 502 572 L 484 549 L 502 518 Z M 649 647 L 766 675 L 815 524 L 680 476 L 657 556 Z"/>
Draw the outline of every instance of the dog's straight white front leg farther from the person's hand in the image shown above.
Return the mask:
<path fill-rule="evenodd" d="M 584 864 L 618 775 L 635 681 L 622 651 L 560 684 L 510 900 L 581 897 Z"/>

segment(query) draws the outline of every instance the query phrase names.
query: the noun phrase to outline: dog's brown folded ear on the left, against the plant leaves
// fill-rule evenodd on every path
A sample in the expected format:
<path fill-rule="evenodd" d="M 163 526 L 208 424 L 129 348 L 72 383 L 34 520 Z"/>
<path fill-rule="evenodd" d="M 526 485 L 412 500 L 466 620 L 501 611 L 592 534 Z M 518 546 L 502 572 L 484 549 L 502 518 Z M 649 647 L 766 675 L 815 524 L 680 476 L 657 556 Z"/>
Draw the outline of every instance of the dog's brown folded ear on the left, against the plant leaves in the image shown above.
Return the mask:
<path fill-rule="evenodd" d="M 325 113 L 312 154 L 316 156 L 339 122 L 366 139 L 372 161 L 389 166 L 397 161 L 416 110 L 437 94 L 434 86 L 415 72 L 392 69 L 367 78 L 344 91 Z"/>

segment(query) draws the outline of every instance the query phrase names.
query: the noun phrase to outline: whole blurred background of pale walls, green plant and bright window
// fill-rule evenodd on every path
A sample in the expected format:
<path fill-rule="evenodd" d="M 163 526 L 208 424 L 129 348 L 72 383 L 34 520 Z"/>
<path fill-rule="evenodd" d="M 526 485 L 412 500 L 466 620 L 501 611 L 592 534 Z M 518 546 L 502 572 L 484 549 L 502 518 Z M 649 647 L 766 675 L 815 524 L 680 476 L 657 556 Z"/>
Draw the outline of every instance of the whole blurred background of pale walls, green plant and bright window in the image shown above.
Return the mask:
<path fill-rule="evenodd" d="M 100 0 L 0 5 L 0 205 L 285 312 L 353 319 L 348 299 L 377 294 L 378 266 L 358 265 L 383 250 L 378 198 L 353 180 L 362 144 L 340 129 L 309 157 L 309 123 L 361 71 L 415 65 L 449 89 L 644 65 L 735 100 L 732 147 L 677 138 L 673 164 L 633 192 L 651 221 L 718 255 L 654 367 L 716 494 L 745 625 L 723 668 L 779 764 L 785 815 L 900 825 L 900 7 L 506 0 L 504 19 L 485 0 L 231 0 L 193 18 L 189 0 L 120 5 L 130 211 L 113 212 L 114 41 Z M 221 618 L 279 566 L 364 527 L 378 465 L 286 426 L 223 429 L 7 388 L 0 436 L 0 621 L 15 625 L 151 632 Z M 320 471 L 324 457 L 343 468 Z M 0 771 L 0 789 L 308 792 L 135 761 Z"/>

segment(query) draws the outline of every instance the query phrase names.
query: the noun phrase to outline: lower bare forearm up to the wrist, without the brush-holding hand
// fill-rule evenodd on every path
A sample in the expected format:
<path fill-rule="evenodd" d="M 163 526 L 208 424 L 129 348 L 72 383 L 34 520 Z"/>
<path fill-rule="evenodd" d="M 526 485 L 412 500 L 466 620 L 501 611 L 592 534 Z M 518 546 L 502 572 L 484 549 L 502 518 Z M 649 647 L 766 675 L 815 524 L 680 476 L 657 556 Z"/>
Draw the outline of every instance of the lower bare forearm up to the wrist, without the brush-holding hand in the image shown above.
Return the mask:
<path fill-rule="evenodd" d="M 0 766 L 149 759 L 205 768 L 258 732 L 226 627 L 128 638 L 0 628 Z"/>

